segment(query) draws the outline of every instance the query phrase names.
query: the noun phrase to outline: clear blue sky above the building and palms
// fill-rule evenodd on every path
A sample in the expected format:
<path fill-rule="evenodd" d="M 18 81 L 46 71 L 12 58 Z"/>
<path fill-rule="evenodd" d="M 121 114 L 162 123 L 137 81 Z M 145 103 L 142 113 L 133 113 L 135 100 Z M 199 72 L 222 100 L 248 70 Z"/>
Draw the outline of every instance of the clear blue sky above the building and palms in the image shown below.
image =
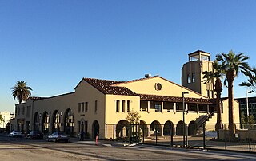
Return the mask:
<path fill-rule="evenodd" d="M 128 81 L 145 73 L 181 84 L 188 53 L 246 53 L 256 62 L 256 1 L 1 1 L 0 112 L 10 88 L 73 92 L 82 77 Z M 246 96 L 234 82 L 234 96 Z M 227 89 L 224 88 L 223 96 Z M 253 95 L 250 95 L 253 96 Z"/>

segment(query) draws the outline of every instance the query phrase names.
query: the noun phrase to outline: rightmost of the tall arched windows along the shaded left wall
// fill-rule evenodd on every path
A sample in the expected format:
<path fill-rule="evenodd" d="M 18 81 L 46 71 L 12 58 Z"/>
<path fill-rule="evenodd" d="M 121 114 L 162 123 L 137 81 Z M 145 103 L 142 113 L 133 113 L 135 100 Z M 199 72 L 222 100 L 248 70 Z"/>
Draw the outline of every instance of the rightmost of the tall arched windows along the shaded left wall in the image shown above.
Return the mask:
<path fill-rule="evenodd" d="M 74 132 L 74 114 L 70 108 L 65 112 L 64 132 L 66 132 L 66 134 L 72 134 Z"/>

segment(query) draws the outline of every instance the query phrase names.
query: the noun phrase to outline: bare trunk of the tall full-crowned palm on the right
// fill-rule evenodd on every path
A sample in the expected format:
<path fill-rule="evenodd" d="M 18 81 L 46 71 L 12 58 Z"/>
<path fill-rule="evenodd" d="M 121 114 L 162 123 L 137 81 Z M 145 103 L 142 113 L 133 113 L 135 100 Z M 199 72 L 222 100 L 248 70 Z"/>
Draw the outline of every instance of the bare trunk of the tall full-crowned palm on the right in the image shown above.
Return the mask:
<path fill-rule="evenodd" d="M 229 69 L 227 72 L 227 82 L 228 82 L 228 97 L 229 97 L 229 136 L 231 140 L 234 140 L 235 127 L 234 127 L 234 84 L 235 71 L 234 69 Z"/>

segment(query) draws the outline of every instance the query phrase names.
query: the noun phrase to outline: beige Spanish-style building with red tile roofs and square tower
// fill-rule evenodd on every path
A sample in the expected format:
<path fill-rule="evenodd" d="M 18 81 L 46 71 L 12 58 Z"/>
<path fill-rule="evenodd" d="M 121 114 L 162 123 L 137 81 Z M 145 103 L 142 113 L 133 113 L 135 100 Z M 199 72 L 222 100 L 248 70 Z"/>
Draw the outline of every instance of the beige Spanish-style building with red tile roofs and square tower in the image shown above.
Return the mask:
<path fill-rule="evenodd" d="M 14 128 L 28 132 L 40 130 L 45 133 L 63 131 L 78 134 L 81 130 L 94 138 L 113 138 L 108 134 L 108 124 L 126 124 L 131 110 L 141 116 L 140 124 L 151 124 L 164 129 L 174 125 L 178 134 L 183 124 L 183 97 L 186 108 L 186 124 L 202 122 L 215 124 L 217 114 L 214 104 L 214 82 L 202 83 L 202 72 L 212 69 L 210 53 L 196 51 L 189 54 L 189 61 L 182 67 L 182 85 L 160 76 L 146 75 L 133 81 L 110 81 L 82 78 L 74 92 L 51 97 L 31 96 L 25 103 L 16 104 Z M 186 93 L 184 95 L 184 93 Z M 222 123 L 228 123 L 228 101 L 222 100 Z M 234 122 L 239 123 L 238 102 L 234 101 Z"/>

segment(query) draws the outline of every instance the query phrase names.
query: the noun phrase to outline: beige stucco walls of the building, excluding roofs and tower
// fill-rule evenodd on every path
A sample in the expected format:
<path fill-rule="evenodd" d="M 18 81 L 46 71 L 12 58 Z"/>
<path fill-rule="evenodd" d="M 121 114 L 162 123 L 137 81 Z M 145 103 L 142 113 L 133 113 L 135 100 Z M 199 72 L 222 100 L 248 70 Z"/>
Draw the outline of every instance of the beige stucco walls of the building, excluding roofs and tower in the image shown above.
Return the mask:
<path fill-rule="evenodd" d="M 156 90 L 155 84 L 162 84 L 162 90 Z M 148 95 L 159 95 L 159 96 L 182 96 L 182 92 L 189 92 L 186 97 L 202 98 L 203 96 L 192 92 L 190 89 L 182 88 L 181 86 L 174 84 L 170 81 L 166 81 L 162 77 L 150 77 L 147 79 L 142 79 L 141 81 L 131 81 L 126 84 L 119 84 L 130 90 Z M 97 112 L 95 109 L 95 100 L 97 100 Z M 116 101 L 120 101 L 120 110 L 116 112 Z M 122 112 L 122 100 L 125 101 L 125 112 Z M 121 96 L 121 95 L 110 95 L 103 94 L 94 88 L 92 85 L 82 80 L 78 86 L 75 88 L 75 92 L 67 93 L 65 95 L 54 96 L 44 100 L 27 100 L 25 104 L 18 104 L 17 107 L 31 106 L 34 107 L 34 110 L 31 109 L 30 117 L 26 116 L 26 108 L 24 114 L 22 114 L 22 108 L 20 115 L 16 114 L 16 120 L 30 121 L 31 128 L 34 126 L 34 113 L 43 114 L 43 112 L 51 113 L 50 116 L 50 132 L 53 125 L 53 114 L 55 110 L 62 112 L 61 120 L 62 123 L 61 131 L 64 130 L 64 117 L 67 109 L 71 109 L 74 112 L 74 132 L 78 132 L 78 121 L 87 121 L 87 129 L 90 136 L 93 135 L 93 124 L 97 120 L 99 124 L 99 136 L 104 138 L 106 134 L 106 124 L 118 124 L 120 120 L 126 120 L 127 112 L 127 101 L 130 101 L 130 109 L 136 112 L 139 112 L 141 119 L 145 124 L 151 124 L 154 120 L 158 121 L 159 124 L 165 124 L 166 121 L 171 121 L 173 124 L 178 124 L 179 121 L 183 120 L 182 112 L 175 111 L 171 109 L 169 112 L 166 109 L 163 109 L 162 112 L 155 112 L 154 105 L 151 105 L 150 110 L 142 111 L 142 104 L 145 107 L 148 102 L 141 101 L 139 96 Z M 88 102 L 88 111 L 87 112 L 78 112 L 78 103 Z M 163 104 L 163 103 L 162 103 Z M 181 103 L 179 103 L 181 104 Z M 165 104 L 164 104 L 165 105 Z M 169 104 L 170 105 L 170 104 Z M 222 113 L 222 123 L 228 123 L 228 100 L 223 100 L 223 113 Z M 165 108 L 165 107 L 162 107 Z M 239 123 L 239 108 L 238 102 L 234 101 L 234 110 L 235 110 L 235 123 Z M 200 116 L 205 116 L 206 112 L 188 112 L 185 115 L 186 124 L 189 124 L 190 121 L 196 121 Z M 207 124 L 215 124 L 217 121 L 217 114 L 212 116 Z M 17 123 L 17 121 L 16 121 Z M 40 123 L 42 123 L 42 117 L 40 117 Z M 214 127 L 214 126 L 213 126 Z M 110 125 L 110 128 L 113 129 L 113 126 Z M 42 124 L 40 124 L 40 129 L 42 129 Z M 109 127 L 107 128 L 107 130 Z M 214 128 L 213 128 L 214 129 Z"/>

